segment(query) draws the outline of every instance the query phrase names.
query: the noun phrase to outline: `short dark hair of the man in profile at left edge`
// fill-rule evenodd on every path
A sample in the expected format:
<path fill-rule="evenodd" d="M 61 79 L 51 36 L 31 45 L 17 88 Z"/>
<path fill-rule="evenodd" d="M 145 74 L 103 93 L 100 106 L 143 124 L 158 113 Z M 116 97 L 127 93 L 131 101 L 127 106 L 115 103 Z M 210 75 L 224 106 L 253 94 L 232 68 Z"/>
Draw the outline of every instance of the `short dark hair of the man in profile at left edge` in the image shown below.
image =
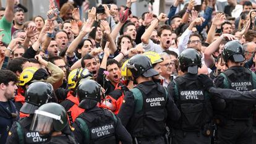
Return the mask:
<path fill-rule="evenodd" d="M 9 82 L 17 82 L 17 76 L 11 70 L 0 70 L 0 84 L 8 85 Z"/>

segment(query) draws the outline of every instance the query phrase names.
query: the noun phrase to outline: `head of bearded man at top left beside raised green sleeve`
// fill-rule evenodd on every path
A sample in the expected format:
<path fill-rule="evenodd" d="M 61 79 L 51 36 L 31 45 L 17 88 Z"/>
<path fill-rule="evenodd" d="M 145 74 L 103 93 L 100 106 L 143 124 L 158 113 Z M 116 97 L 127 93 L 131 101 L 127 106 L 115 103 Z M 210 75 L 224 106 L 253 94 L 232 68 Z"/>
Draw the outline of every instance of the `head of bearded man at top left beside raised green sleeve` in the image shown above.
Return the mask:
<path fill-rule="evenodd" d="M 17 8 L 14 9 L 14 26 L 12 26 L 12 33 L 16 30 L 21 30 L 24 23 L 24 10 Z"/>

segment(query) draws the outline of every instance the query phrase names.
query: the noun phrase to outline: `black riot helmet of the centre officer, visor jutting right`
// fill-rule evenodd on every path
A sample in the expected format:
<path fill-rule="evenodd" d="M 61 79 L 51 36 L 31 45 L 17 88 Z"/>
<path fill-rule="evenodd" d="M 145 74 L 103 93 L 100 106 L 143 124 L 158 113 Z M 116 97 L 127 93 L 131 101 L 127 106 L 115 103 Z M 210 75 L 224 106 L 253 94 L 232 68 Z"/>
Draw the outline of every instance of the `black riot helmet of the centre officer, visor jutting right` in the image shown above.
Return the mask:
<path fill-rule="evenodd" d="M 132 56 L 127 62 L 126 67 L 132 72 L 134 78 L 138 78 L 140 75 L 144 77 L 159 75 L 159 73 L 153 69 L 150 59 L 142 54 Z"/>

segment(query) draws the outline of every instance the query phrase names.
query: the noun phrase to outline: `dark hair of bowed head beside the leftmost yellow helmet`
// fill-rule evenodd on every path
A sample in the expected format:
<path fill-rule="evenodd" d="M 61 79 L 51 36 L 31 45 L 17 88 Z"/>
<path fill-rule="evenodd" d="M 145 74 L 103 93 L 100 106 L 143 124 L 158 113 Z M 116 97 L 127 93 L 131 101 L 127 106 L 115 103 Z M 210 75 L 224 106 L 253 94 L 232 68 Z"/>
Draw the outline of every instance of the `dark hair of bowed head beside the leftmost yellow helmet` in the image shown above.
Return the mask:
<path fill-rule="evenodd" d="M 16 73 L 17 71 L 22 72 L 22 64 L 25 64 L 25 62 L 28 62 L 27 58 L 17 57 L 9 61 L 7 69 L 12 70 L 12 72 L 14 73 Z"/>

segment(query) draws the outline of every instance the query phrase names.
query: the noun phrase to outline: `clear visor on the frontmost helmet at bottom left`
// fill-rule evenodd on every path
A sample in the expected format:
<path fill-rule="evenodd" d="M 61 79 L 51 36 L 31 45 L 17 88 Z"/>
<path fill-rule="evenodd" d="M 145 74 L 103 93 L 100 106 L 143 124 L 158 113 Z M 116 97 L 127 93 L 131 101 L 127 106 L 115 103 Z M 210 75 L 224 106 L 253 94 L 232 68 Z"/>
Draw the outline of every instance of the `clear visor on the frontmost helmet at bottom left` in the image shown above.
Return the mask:
<path fill-rule="evenodd" d="M 61 121 L 61 116 L 46 111 L 36 110 L 30 130 L 40 132 L 41 134 L 49 133 L 53 129 L 54 120 Z"/>

